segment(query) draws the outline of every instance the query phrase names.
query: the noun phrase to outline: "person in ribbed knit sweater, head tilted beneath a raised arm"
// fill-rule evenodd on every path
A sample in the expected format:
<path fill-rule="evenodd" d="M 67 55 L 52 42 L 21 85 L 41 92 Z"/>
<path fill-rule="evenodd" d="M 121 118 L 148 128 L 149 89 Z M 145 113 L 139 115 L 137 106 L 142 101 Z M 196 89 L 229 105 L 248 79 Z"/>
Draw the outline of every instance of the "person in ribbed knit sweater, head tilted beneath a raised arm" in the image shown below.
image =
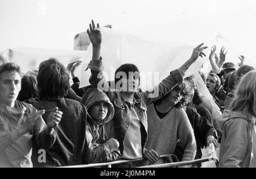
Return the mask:
<path fill-rule="evenodd" d="M 174 153 L 178 140 L 184 148 L 181 161 L 195 158 L 194 132 L 179 103 L 184 95 L 187 95 L 185 84 L 180 83 L 162 99 L 148 106 L 148 139 L 144 157 L 151 163 L 157 162 L 159 155 Z"/>

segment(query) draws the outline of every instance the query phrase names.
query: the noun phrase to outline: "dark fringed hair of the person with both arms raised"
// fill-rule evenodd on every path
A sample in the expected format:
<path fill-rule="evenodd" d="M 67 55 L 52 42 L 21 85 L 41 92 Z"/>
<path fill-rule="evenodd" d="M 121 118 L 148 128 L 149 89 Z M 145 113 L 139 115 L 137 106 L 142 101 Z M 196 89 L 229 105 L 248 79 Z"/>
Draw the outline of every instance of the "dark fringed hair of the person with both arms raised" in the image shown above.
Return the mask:
<path fill-rule="evenodd" d="M 115 85 L 117 84 L 117 82 L 119 80 L 122 79 L 122 77 L 117 77 L 117 73 L 118 72 L 123 72 L 126 74 L 127 77 L 129 77 L 129 72 L 137 72 L 137 74 L 139 75 L 139 69 L 136 65 L 134 64 L 122 64 L 121 66 L 119 66 L 119 68 L 117 70 L 115 70 Z M 139 81 L 140 81 L 140 76 L 138 76 Z"/>

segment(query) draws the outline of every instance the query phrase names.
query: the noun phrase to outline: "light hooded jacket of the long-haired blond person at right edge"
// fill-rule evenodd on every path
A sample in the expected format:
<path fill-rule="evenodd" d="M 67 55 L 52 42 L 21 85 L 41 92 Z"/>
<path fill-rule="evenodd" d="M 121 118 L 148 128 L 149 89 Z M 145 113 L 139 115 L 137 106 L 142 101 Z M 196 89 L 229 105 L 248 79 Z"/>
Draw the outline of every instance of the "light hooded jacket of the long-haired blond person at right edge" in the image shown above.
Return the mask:
<path fill-rule="evenodd" d="M 220 125 L 223 133 L 219 167 L 249 167 L 253 157 L 255 120 L 235 111 L 225 113 L 223 118 L 226 120 Z"/>

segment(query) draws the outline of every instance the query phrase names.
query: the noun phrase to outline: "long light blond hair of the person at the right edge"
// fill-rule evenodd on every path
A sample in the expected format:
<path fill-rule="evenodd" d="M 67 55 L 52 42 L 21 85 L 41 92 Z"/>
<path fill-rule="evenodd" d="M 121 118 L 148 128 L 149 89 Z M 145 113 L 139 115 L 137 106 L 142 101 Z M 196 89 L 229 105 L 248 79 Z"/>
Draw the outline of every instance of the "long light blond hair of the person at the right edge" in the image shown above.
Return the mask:
<path fill-rule="evenodd" d="M 256 117 L 256 70 L 245 74 L 237 84 L 231 111 L 241 111 L 246 116 Z"/>

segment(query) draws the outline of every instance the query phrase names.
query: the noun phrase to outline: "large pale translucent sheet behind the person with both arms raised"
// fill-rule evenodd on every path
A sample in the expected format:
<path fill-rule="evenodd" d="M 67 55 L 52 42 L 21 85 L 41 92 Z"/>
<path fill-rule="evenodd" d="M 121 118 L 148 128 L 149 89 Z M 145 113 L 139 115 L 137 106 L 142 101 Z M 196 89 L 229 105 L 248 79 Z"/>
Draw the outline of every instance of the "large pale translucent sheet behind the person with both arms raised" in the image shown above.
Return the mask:
<path fill-rule="evenodd" d="M 171 46 L 140 39 L 125 32 L 101 27 L 101 56 L 106 80 L 114 80 L 115 70 L 122 64 L 133 63 L 141 72 L 142 90 L 151 89 L 167 77 L 171 70 L 179 68 L 191 57 L 191 46 Z M 89 85 L 90 70 L 86 69 L 92 59 L 92 44 L 87 49 L 82 66 L 80 88 Z M 199 59 L 188 69 L 186 76 L 196 73 L 204 61 Z"/>

